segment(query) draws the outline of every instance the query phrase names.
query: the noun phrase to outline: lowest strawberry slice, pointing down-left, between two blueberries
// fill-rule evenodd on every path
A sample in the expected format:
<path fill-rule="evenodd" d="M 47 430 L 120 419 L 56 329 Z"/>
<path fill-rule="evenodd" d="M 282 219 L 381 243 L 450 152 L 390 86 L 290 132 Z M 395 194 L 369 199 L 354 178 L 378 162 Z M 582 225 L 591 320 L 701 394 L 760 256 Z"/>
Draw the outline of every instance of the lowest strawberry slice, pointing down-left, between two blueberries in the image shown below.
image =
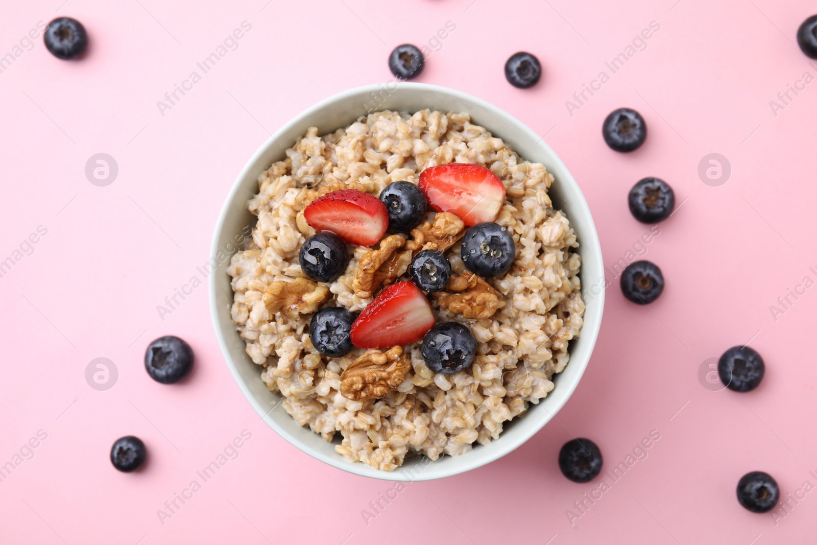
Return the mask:
<path fill-rule="evenodd" d="M 425 294 L 412 282 L 397 282 L 370 302 L 352 324 L 352 344 L 391 348 L 419 341 L 434 325 Z"/>

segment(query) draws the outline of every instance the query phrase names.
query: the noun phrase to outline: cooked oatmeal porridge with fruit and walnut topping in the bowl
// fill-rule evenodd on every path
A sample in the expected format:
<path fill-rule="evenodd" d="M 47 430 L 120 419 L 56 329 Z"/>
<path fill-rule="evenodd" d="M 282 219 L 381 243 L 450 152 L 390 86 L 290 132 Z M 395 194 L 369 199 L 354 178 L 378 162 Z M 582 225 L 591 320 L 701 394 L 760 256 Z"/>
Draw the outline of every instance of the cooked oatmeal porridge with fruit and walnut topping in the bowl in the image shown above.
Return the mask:
<path fill-rule="evenodd" d="M 502 194 L 495 209 L 483 197 L 473 206 L 440 206 L 440 192 L 424 186 L 421 174 L 449 163 L 476 165 L 473 172 L 487 168 L 484 176 Z M 324 232 L 319 205 L 349 204 L 342 214 L 369 225 L 366 214 L 383 213 L 378 198 L 395 182 L 418 186 L 422 191 L 408 189 L 428 198 L 419 225 L 395 230 L 398 222 L 389 216 L 391 226 L 373 221 L 377 229 L 357 243 L 349 237 L 333 243 L 337 236 Z M 301 426 L 327 441 L 339 434 L 337 453 L 380 470 L 418 454 L 435 460 L 498 439 L 504 422 L 553 389 L 553 375 L 568 364 L 568 343 L 583 324 L 578 242 L 568 218 L 552 207 L 552 183 L 542 164 L 521 159 L 467 114 L 382 111 L 324 136 L 310 127 L 286 159 L 259 176 L 248 203 L 257 216 L 252 240 L 229 268 L 232 319 L 260 379 L 283 395 L 283 408 Z M 475 239 L 488 236 L 475 231 L 486 226 L 493 238 Z M 497 249 L 484 240 L 506 245 Z M 500 256 L 509 268 L 475 274 L 474 248 L 466 261 L 461 253 L 469 244 L 476 244 L 476 257 L 483 248 L 485 259 Z M 315 245 L 339 252 L 328 262 L 339 267 L 334 275 L 301 266 Z M 502 248 L 512 248 L 510 256 L 501 257 Z M 439 289 L 417 281 L 414 264 L 424 255 L 431 261 L 417 270 Z M 382 325 L 386 308 L 408 309 L 411 327 Z M 352 332 L 339 340 L 344 319 Z M 322 337 L 334 344 L 316 347 L 315 330 L 325 323 L 335 324 Z M 453 362 L 451 351 L 448 360 L 440 356 L 442 364 L 429 355 L 435 342 L 428 337 L 441 326 L 461 335 L 463 346 L 474 340 L 464 361 Z"/>

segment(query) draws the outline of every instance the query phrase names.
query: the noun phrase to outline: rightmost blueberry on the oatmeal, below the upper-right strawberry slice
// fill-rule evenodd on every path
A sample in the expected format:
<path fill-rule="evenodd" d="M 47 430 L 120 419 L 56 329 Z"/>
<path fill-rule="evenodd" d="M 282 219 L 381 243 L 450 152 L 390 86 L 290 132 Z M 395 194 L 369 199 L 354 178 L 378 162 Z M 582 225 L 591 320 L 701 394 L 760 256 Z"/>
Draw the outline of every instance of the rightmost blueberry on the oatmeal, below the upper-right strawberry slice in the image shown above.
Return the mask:
<path fill-rule="evenodd" d="M 462 237 L 462 262 L 480 276 L 499 276 L 513 265 L 516 244 L 505 227 L 491 221 L 472 226 Z"/>

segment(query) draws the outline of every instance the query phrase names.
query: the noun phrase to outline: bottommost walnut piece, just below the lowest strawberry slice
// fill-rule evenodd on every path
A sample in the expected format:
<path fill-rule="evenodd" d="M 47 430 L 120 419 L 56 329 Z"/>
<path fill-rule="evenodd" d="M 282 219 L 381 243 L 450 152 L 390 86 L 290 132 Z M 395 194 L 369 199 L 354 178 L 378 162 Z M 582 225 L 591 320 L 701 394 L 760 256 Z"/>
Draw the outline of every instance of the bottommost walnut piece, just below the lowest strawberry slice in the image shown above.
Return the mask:
<path fill-rule="evenodd" d="M 408 369 L 411 363 L 402 346 L 385 352 L 370 348 L 341 375 L 341 395 L 355 401 L 380 399 L 400 386 Z"/>

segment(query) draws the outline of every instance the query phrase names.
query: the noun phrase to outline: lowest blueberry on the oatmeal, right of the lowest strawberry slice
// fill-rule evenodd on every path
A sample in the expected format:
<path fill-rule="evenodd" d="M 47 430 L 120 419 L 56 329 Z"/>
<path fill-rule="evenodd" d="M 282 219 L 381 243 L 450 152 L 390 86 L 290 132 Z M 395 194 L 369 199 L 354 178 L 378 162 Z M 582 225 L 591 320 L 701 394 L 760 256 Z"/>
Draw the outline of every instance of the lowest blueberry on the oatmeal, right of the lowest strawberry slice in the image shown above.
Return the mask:
<path fill-rule="evenodd" d="M 435 373 L 450 375 L 471 367 L 476 339 L 458 322 L 443 322 L 429 329 L 422 338 L 422 359 Z"/>

